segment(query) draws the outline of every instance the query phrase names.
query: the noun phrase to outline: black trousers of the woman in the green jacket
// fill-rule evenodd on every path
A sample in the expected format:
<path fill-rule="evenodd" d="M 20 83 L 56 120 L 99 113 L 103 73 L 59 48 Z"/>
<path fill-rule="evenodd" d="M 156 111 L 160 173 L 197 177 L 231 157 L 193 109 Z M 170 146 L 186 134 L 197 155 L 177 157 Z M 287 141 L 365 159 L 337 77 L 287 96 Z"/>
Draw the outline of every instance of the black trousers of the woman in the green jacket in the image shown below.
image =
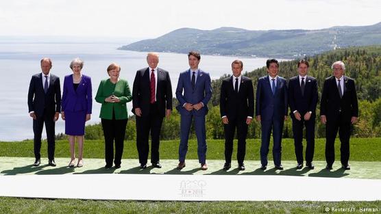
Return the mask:
<path fill-rule="evenodd" d="M 112 166 L 114 159 L 115 165 L 121 165 L 123 155 L 123 144 L 125 137 L 125 126 L 127 119 L 112 120 L 101 119 L 103 135 L 105 137 L 105 159 L 106 165 Z M 114 158 L 114 141 L 115 141 L 115 158 Z"/>

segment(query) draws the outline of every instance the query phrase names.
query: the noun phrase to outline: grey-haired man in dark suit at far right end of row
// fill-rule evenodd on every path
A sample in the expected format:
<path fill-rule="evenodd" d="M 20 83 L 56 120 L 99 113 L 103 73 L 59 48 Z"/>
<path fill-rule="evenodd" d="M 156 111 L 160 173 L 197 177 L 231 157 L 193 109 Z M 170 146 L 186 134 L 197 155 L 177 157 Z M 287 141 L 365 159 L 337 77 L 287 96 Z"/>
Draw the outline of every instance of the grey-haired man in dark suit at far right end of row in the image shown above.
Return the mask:
<path fill-rule="evenodd" d="M 345 64 L 341 61 L 332 64 L 333 76 L 324 81 L 321 94 L 320 118 L 325 124 L 325 161 L 327 170 L 334 163 L 334 140 L 339 131 L 341 165 L 349 166 L 349 137 L 352 124 L 358 120 L 358 103 L 354 80 L 344 76 Z"/>

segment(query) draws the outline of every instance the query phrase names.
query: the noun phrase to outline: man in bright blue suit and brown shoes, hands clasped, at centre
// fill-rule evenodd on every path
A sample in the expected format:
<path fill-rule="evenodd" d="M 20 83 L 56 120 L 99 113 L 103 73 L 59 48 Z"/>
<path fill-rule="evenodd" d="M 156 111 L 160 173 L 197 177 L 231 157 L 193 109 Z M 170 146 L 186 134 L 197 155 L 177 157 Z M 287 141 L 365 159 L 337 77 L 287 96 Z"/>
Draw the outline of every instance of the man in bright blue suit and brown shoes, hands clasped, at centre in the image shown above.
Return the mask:
<path fill-rule="evenodd" d="M 185 157 L 188 151 L 188 137 L 190 124 L 195 120 L 195 131 L 197 136 L 197 155 L 201 170 L 207 170 L 206 165 L 206 129 L 205 116 L 208 113 L 208 102 L 212 97 L 210 76 L 207 72 L 199 69 L 201 56 L 197 51 L 188 53 L 188 64 L 190 68 L 180 73 L 176 88 L 176 98 L 179 101 L 176 109 L 180 112 L 180 146 L 179 164 L 177 169 L 185 167 Z M 184 93 L 183 93 L 184 92 Z"/>

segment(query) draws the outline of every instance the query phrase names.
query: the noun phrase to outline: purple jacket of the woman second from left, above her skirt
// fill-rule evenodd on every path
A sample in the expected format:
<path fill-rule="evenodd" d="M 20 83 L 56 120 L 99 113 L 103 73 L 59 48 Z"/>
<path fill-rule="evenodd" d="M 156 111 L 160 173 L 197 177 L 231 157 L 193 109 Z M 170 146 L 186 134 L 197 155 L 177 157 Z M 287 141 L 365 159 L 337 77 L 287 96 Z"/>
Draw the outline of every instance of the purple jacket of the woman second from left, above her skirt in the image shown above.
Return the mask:
<path fill-rule="evenodd" d="M 82 75 L 77 90 L 74 90 L 73 75 L 65 76 L 64 90 L 62 92 L 62 111 L 86 111 L 86 113 L 91 113 L 92 107 L 91 78 Z"/>

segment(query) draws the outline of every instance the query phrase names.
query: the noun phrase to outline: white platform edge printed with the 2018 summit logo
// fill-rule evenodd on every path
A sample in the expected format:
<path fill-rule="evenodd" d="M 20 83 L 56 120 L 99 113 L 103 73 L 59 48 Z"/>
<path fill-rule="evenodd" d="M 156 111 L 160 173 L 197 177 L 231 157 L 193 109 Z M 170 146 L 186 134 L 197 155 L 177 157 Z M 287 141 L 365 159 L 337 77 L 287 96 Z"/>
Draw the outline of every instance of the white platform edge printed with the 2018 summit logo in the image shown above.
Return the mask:
<path fill-rule="evenodd" d="M 0 176 L 0 196 L 93 200 L 373 201 L 381 180 L 304 176 L 63 174 Z"/>

